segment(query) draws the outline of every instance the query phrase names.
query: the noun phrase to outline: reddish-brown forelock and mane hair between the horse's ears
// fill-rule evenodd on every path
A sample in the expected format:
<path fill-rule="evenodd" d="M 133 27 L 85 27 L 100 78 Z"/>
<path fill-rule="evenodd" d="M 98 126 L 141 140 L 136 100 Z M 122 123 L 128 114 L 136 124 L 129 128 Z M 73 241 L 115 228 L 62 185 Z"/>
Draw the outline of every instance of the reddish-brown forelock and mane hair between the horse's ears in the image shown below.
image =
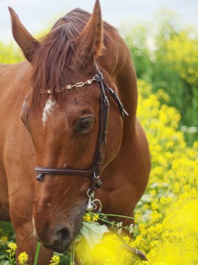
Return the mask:
<path fill-rule="evenodd" d="M 90 13 L 76 8 L 61 17 L 53 25 L 51 31 L 40 40 L 40 47 L 33 56 L 33 75 L 31 86 L 35 100 L 40 98 L 40 90 L 51 90 L 51 95 L 57 98 L 56 89 L 74 84 L 75 69 L 72 69 L 72 60 L 75 52 L 74 40 L 78 38 Z M 110 32 L 116 29 L 104 22 L 104 47 L 113 44 Z M 61 93 L 64 94 L 64 93 Z"/>

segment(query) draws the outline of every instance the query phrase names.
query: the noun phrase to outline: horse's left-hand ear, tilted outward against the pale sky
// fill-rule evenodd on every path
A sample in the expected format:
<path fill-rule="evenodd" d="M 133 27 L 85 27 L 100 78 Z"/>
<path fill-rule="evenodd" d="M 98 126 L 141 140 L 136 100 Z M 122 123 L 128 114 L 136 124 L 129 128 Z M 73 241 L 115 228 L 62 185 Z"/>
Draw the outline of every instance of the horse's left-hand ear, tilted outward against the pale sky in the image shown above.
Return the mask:
<path fill-rule="evenodd" d="M 31 33 L 26 30 L 13 8 L 10 8 L 9 6 L 8 9 L 11 16 L 13 37 L 24 52 L 26 59 L 28 59 L 28 61 L 31 63 L 33 54 L 40 46 L 40 43 L 38 42 L 38 40 L 35 40 L 35 38 L 31 36 Z"/>

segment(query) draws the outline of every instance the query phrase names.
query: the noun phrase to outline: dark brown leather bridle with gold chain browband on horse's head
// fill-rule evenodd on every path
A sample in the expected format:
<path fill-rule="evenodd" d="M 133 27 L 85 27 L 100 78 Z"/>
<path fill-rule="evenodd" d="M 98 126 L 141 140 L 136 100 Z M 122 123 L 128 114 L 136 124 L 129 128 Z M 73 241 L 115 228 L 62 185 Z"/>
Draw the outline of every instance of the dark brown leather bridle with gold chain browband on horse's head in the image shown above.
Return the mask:
<path fill-rule="evenodd" d="M 99 97 L 99 132 L 97 138 L 96 151 L 94 153 L 94 159 L 90 169 L 74 169 L 74 168 L 58 168 L 58 167 L 35 167 L 35 172 L 37 173 L 36 179 L 38 181 L 44 181 L 44 175 L 62 175 L 62 176 L 86 176 L 91 179 L 90 189 L 88 190 L 88 197 L 91 196 L 97 188 L 101 187 L 101 180 L 99 174 L 101 171 L 101 165 L 104 160 L 104 153 L 102 153 L 103 146 L 106 146 L 106 138 L 108 133 L 108 110 L 109 110 L 109 101 L 106 91 L 117 103 L 119 112 L 124 116 L 129 116 L 129 114 L 124 109 L 117 93 L 110 89 L 104 82 L 104 77 L 99 70 L 99 66 L 95 63 L 97 69 L 97 74 L 94 75 L 92 79 L 89 79 L 86 82 L 79 82 L 74 85 L 68 85 L 65 88 L 58 89 L 58 92 L 63 91 L 63 89 L 72 89 L 73 87 L 85 86 L 92 84 L 92 82 L 97 82 L 100 87 L 100 97 Z M 40 93 L 51 93 L 51 91 L 40 91 Z"/>

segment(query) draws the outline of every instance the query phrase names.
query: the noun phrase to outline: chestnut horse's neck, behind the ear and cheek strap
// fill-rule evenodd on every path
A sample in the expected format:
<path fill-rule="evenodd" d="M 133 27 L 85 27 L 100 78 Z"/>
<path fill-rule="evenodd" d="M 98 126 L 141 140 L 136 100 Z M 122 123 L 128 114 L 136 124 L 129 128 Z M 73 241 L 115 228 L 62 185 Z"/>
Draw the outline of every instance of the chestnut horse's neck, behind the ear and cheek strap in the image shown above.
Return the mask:
<path fill-rule="evenodd" d="M 105 68 L 113 77 L 117 86 L 117 93 L 124 108 L 129 112 L 129 117 L 124 119 L 128 128 L 134 128 L 138 103 L 137 78 L 131 59 L 129 48 L 117 32 L 111 33 L 111 38 L 116 45 L 111 45 L 104 50 L 104 56 L 99 59 L 99 65 Z"/>

